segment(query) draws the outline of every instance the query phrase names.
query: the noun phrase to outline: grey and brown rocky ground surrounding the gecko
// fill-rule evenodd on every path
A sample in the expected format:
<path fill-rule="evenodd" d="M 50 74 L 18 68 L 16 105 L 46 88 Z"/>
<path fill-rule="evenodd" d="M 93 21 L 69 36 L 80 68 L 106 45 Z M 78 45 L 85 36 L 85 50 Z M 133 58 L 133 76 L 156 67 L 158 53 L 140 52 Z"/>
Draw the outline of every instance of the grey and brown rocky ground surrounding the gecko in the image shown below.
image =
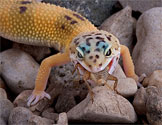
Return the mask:
<path fill-rule="evenodd" d="M 68 123 L 162 124 L 162 1 L 44 0 L 87 17 L 99 29 L 117 36 L 129 47 L 143 87 L 127 78 L 120 65 L 116 94 L 94 87 L 92 103 L 87 87 L 71 63 L 54 67 L 48 80 L 51 100 L 27 107 L 40 62 L 57 53 L 53 48 L 18 44 L 1 38 L 0 125 Z M 127 6 L 129 5 L 129 6 Z M 97 9 L 96 9 L 97 8 Z M 120 62 L 121 63 L 121 62 Z M 107 81 L 113 87 L 112 81 Z"/>

